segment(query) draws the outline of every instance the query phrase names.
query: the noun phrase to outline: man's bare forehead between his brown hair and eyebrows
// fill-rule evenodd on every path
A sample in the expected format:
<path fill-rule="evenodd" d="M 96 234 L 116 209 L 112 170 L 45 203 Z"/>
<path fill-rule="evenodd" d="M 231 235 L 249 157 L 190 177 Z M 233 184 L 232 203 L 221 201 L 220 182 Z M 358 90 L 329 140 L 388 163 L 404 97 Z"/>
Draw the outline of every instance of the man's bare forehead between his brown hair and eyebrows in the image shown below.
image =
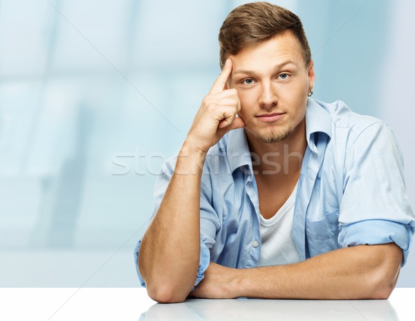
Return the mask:
<path fill-rule="evenodd" d="M 291 31 L 286 31 L 256 46 L 243 48 L 237 55 L 230 55 L 233 70 L 255 69 L 291 61 L 296 66 L 304 64 L 302 48 Z"/>

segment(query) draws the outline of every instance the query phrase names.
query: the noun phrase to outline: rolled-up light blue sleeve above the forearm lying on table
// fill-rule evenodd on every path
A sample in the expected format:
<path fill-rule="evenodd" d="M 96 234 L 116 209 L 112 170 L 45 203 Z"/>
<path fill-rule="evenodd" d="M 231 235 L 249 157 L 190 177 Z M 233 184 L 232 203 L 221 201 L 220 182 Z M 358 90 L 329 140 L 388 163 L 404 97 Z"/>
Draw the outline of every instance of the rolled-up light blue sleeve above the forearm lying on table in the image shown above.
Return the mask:
<path fill-rule="evenodd" d="M 407 261 L 415 217 L 405 189 L 403 156 L 383 122 L 362 131 L 347 154 L 340 206 L 342 247 L 395 242 Z"/>

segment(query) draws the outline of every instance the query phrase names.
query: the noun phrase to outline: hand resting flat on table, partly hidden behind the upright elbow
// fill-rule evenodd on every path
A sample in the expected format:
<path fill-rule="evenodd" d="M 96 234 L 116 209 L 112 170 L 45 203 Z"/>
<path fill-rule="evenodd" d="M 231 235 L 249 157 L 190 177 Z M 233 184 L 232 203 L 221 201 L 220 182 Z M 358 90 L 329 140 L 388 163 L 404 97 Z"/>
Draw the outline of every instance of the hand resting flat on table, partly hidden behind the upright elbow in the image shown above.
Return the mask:
<path fill-rule="evenodd" d="M 205 277 L 189 295 L 205 299 L 233 299 L 240 296 L 237 295 L 236 280 L 236 268 L 210 262 Z"/>

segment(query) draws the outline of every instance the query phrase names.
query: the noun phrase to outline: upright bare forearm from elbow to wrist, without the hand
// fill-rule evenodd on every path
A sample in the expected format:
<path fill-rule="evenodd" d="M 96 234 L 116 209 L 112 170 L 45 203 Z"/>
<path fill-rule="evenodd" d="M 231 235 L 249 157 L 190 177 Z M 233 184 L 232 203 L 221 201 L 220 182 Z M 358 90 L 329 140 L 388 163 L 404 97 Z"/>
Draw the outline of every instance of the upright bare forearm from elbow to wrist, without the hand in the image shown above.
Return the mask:
<path fill-rule="evenodd" d="M 138 267 L 149 295 L 158 301 L 184 300 L 196 280 L 204 159 L 205 154 L 183 144 L 163 201 L 142 238 Z"/>

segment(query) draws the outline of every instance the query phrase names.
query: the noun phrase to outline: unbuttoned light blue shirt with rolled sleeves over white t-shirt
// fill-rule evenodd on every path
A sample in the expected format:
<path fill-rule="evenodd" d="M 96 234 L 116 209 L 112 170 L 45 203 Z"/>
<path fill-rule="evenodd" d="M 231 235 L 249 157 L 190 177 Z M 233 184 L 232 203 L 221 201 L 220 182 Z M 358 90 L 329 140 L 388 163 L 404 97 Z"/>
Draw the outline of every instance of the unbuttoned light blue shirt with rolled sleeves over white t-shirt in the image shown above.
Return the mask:
<path fill-rule="evenodd" d="M 293 240 L 302 260 L 347 246 L 395 242 L 407 260 L 415 217 L 405 190 L 403 156 L 389 127 L 353 113 L 344 102 L 308 98 Z M 176 158 L 154 187 L 158 209 Z M 261 252 L 259 199 L 244 129 L 210 148 L 201 178 L 201 256 L 196 284 L 209 262 L 255 268 Z M 137 267 L 140 241 L 134 251 Z M 180 259 L 180 258 L 178 258 Z"/>

